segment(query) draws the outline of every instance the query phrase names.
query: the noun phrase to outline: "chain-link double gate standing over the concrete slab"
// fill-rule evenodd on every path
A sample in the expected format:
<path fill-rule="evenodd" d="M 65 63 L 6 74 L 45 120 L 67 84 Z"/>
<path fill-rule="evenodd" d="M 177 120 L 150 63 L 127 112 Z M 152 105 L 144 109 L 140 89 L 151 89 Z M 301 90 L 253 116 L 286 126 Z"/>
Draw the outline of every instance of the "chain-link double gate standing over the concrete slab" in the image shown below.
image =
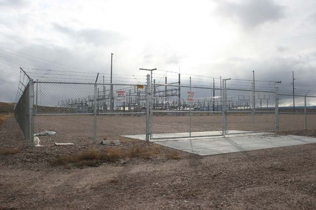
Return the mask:
<path fill-rule="evenodd" d="M 276 91 L 153 84 L 151 139 L 276 132 Z"/>

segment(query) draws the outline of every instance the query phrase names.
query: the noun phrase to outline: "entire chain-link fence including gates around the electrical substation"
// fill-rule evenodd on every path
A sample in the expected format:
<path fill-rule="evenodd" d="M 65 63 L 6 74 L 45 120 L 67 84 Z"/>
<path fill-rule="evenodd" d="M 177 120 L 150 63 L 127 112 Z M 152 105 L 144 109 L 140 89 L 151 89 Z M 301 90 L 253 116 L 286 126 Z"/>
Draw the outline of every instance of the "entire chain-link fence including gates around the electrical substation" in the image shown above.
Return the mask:
<path fill-rule="evenodd" d="M 175 139 L 254 132 L 311 129 L 315 96 L 280 93 L 251 82 L 240 88 L 180 82 L 137 84 L 29 81 L 21 90 L 15 117 L 25 138 L 49 142 L 98 142 L 119 136 Z M 48 132 L 53 131 L 53 132 Z M 53 134 L 53 135 L 50 135 Z"/>

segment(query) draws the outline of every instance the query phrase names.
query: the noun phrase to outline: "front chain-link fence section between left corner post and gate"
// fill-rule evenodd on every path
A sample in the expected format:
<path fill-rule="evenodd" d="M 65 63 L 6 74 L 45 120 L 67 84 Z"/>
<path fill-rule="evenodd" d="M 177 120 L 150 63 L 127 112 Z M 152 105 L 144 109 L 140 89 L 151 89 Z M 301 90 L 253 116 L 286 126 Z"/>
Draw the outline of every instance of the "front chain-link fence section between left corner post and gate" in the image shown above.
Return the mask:
<path fill-rule="evenodd" d="M 144 134 L 145 88 L 139 84 L 36 82 L 34 133 L 54 131 L 41 138 L 76 143 Z"/>

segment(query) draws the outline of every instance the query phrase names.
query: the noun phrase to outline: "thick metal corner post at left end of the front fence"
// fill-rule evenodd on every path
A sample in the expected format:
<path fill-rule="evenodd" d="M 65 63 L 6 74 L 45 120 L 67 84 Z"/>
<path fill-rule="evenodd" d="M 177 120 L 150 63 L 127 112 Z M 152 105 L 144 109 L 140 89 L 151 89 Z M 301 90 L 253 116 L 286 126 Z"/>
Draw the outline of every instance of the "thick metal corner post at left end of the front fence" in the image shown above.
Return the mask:
<path fill-rule="evenodd" d="M 28 81 L 28 141 L 30 146 L 34 146 L 34 134 L 33 134 L 33 79 Z"/>

